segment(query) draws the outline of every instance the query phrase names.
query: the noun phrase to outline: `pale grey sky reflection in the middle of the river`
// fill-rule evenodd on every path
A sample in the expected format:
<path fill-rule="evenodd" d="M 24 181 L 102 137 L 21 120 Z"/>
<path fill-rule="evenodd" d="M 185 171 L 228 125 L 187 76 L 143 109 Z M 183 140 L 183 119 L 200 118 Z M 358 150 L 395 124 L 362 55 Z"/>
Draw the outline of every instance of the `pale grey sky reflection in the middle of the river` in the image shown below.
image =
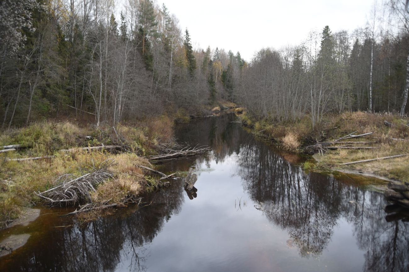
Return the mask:
<path fill-rule="evenodd" d="M 200 172 L 198 197 L 189 200 L 148 246 L 152 271 L 359 271 L 364 262 L 351 226 L 344 220 L 319 257 L 301 258 L 286 244 L 288 233 L 270 223 L 257 202 L 243 191 L 237 157 L 211 161 L 214 171 Z M 203 165 L 201 165 L 203 167 Z M 241 198 L 241 210 L 238 199 Z M 236 200 L 236 207 L 235 207 Z M 246 206 L 243 202 L 246 201 Z M 337 261 L 339 259 L 339 261 Z M 342 260 L 343 259 L 343 260 Z M 177 260 L 177 261 L 175 261 Z M 349 260 L 348 263 L 344 263 Z M 342 265 L 341 265 L 342 264 Z M 302 265 L 300 267 L 300 265 Z M 302 269 L 301 269 L 302 268 Z M 341 268 L 341 270 L 338 270 Z"/>

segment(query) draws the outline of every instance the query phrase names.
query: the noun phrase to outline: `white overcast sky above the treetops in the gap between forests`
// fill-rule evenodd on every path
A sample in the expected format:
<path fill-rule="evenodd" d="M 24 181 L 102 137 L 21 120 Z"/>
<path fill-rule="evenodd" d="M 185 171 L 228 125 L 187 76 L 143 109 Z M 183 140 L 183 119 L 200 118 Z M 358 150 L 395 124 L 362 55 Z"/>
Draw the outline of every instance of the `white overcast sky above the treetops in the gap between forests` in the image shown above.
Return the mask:
<path fill-rule="evenodd" d="M 245 60 L 267 46 L 299 44 L 312 29 L 363 27 L 374 0 L 156 0 L 189 29 L 195 47 L 240 51 Z M 381 6 L 378 0 L 378 6 Z"/>

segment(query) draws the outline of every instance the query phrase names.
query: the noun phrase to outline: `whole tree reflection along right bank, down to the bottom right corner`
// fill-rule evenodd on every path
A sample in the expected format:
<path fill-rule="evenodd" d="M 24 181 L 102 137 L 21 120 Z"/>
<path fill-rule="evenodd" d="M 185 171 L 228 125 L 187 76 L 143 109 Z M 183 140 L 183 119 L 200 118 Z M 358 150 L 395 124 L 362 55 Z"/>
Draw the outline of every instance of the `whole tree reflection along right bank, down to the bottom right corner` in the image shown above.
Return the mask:
<path fill-rule="evenodd" d="M 237 161 L 252 200 L 260 203 L 267 219 L 288 230 L 301 256 L 320 254 L 343 217 L 353 224 L 358 246 L 366 251 L 364 271 L 409 271 L 409 224 L 384 219 L 382 194 L 303 173 L 252 138 L 241 144 Z"/>

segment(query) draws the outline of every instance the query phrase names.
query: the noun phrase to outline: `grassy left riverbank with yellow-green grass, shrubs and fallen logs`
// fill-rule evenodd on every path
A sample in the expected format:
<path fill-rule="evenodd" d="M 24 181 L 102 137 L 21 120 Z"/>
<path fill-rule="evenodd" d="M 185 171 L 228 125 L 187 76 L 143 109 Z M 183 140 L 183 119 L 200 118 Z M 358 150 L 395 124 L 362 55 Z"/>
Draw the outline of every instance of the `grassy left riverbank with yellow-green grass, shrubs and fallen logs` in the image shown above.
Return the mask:
<path fill-rule="evenodd" d="M 98 168 L 107 159 L 114 161 L 108 170 L 113 176 L 90 193 L 92 203 L 121 203 L 155 186 L 155 178 L 138 165 L 152 167 L 145 158 L 173 142 L 175 117 L 155 117 L 133 124 L 80 127 L 70 122 L 38 122 L 0 135 L 0 146 L 21 144 L 23 148 L 0 153 L 0 227 L 18 218 L 27 206 L 40 202 L 34 191 L 44 191 L 69 174 L 80 177 Z M 64 149 L 120 145 L 124 150 Z M 1 149 L 1 148 L 0 148 Z M 11 161 L 6 159 L 55 156 L 51 159 Z"/>

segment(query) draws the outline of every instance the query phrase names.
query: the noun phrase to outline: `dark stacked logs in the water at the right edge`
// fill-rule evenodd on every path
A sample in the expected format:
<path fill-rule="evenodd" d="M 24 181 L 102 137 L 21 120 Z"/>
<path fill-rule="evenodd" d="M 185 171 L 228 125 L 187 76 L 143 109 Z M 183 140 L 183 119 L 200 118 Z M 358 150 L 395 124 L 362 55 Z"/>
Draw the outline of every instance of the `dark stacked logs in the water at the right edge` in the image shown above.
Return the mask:
<path fill-rule="evenodd" d="M 387 221 L 409 221 L 409 182 L 391 181 L 388 190 L 384 192 L 384 197 L 393 204 L 385 207 Z"/>

